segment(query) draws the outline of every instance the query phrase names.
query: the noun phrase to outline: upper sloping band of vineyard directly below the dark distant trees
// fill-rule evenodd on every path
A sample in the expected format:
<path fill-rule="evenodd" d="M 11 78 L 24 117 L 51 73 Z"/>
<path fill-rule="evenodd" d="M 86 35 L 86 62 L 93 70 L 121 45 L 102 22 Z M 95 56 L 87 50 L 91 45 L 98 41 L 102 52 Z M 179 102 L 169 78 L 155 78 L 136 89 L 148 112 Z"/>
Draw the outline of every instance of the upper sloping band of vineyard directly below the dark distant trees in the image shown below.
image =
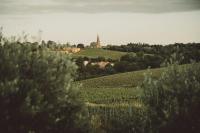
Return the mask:
<path fill-rule="evenodd" d="M 150 69 L 154 77 L 158 77 L 163 71 L 163 68 Z M 99 78 L 83 80 L 82 83 L 84 88 L 102 88 L 102 87 L 136 87 L 144 79 L 144 73 L 147 70 L 126 72 L 120 74 L 114 74 L 110 76 L 104 76 Z"/>

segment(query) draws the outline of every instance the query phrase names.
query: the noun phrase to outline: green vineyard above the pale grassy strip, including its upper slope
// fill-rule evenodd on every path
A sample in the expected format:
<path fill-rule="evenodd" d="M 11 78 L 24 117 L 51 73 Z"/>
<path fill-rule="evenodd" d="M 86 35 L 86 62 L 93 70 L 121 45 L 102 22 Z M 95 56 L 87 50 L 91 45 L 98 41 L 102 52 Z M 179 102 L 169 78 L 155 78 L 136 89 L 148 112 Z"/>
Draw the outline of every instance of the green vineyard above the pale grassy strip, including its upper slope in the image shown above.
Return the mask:
<path fill-rule="evenodd" d="M 163 68 L 149 69 L 153 77 L 159 77 Z M 137 88 L 147 70 L 114 74 L 78 82 L 81 84 L 81 96 L 87 103 L 125 104 L 135 101 L 141 95 Z M 132 102 L 133 103 L 133 102 Z"/>

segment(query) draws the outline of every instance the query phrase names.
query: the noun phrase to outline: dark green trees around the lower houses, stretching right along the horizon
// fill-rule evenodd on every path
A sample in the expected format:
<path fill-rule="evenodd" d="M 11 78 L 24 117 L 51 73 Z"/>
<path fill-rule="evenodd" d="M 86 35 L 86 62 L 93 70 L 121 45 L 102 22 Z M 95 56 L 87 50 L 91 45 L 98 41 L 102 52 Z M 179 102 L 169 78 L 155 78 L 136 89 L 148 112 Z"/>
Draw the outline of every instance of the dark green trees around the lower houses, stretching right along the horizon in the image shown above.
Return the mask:
<path fill-rule="evenodd" d="M 200 61 L 200 43 L 176 43 L 165 46 L 129 43 L 121 46 L 107 46 L 104 49 L 123 51 L 127 54 L 119 60 L 105 59 L 104 57 L 76 58 L 76 64 L 79 66 L 77 80 L 147 68 L 160 68 L 165 66 L 165 63 L 169 62 L 174 54 L 180 64 Z M 108 61 L 114 65 L 108 64 L 105 69 L 101 69 L 98 65 L 91 65 L 91 63 L 83 65 L 84 61 Z"/>

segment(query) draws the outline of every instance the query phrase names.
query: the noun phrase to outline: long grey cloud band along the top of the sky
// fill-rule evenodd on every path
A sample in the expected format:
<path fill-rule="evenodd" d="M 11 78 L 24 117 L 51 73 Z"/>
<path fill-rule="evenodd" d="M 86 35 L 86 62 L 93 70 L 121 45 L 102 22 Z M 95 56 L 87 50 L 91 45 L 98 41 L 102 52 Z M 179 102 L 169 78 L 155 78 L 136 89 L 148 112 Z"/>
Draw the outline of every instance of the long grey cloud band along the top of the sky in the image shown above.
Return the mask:
<path fill-rule="evenodd" d="M 200 10 L 200 0 L 0 0 L 0 14 L 167 13 Z"/>

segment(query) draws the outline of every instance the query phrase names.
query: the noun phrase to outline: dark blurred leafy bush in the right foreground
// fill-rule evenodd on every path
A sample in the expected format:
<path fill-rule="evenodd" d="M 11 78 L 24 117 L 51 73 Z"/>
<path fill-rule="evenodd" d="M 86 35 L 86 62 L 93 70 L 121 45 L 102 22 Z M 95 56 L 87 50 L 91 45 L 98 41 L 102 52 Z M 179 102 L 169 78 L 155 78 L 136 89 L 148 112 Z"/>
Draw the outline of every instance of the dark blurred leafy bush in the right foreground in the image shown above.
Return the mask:
<path fill-rule="evenodd" d="M 158 80 L 147 76 L 142 86 L 148 132 L 200 132 L 200 65 L 172 65 Z"/>

